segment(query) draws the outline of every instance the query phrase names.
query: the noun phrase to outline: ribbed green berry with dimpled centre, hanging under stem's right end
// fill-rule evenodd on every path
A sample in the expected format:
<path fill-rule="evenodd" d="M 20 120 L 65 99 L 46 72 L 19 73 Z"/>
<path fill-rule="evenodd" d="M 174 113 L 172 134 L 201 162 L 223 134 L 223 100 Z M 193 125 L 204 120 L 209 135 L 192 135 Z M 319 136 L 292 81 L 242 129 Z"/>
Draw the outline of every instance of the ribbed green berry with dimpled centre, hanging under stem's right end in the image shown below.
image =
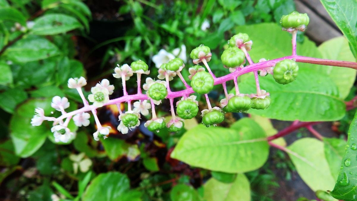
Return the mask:
<path fill-rule="evenodd" d="M 298 70 L 299 67 L 296 62 L 285 59 L 275 65 L 273 78 L 279 84 L 288 84 L 296 79 Z"/>

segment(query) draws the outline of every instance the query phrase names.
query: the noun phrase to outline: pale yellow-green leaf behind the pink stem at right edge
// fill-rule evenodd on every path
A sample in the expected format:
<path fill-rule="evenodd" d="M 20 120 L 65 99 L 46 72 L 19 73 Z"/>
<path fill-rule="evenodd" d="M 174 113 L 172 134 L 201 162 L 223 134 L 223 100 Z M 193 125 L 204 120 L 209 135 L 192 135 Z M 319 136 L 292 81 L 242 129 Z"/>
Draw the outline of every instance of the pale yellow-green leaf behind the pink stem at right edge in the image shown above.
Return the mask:
<path fill-rule="evenodd" d="M 348 41 L 345 37 L 337 37 L 328 40 L 318 46 L 323 59 L 342 60 L 354 62 L 355 58 L 348 47 Z M 357 70 L 352 68 L 341 68 L 335 66 L 321 66 L 315 68 L 317 72 L 323 72 L 332 78 L 336 83 L 340 98 L 345 99 L 350 93 L 353 83 L 356 79 Z"/>

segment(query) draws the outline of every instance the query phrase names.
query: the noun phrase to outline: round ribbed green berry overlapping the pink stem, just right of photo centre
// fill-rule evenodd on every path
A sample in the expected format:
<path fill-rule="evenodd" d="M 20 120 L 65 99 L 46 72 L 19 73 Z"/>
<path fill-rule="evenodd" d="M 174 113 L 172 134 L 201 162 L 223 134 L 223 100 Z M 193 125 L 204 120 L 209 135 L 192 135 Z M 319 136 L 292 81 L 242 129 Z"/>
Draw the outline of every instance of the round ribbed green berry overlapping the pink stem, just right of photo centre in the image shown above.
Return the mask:
<path fill-rule="evenodd" d="M 191 80 L 192 89 L 199 94 L 206 94 L 213 89 L 215 80 L 205 71 L 197 72 Z"/>

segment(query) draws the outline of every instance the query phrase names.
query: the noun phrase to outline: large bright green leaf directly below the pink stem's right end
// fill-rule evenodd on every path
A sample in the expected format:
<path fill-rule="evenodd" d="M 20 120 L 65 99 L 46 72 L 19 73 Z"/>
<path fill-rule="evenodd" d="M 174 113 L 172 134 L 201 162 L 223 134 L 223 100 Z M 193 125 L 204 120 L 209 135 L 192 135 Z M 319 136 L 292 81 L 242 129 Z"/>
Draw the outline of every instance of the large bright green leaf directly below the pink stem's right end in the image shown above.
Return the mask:
<path fill-rule="evenodd" d="M 270 93 L 271 106 L 264 110 L 250 109 L 248 113 L 285 121 L 334 121 L 345 115 L 345 103 L 338 98 L 335 83 L 326 76 L 299 73 L 294 82 L 286 85 L 278 84 L 271 75 L 259 80 L 261 89 Z M 255 93 L 254 77 L 247 77 L 239 87 L 241 93 Z"/>

